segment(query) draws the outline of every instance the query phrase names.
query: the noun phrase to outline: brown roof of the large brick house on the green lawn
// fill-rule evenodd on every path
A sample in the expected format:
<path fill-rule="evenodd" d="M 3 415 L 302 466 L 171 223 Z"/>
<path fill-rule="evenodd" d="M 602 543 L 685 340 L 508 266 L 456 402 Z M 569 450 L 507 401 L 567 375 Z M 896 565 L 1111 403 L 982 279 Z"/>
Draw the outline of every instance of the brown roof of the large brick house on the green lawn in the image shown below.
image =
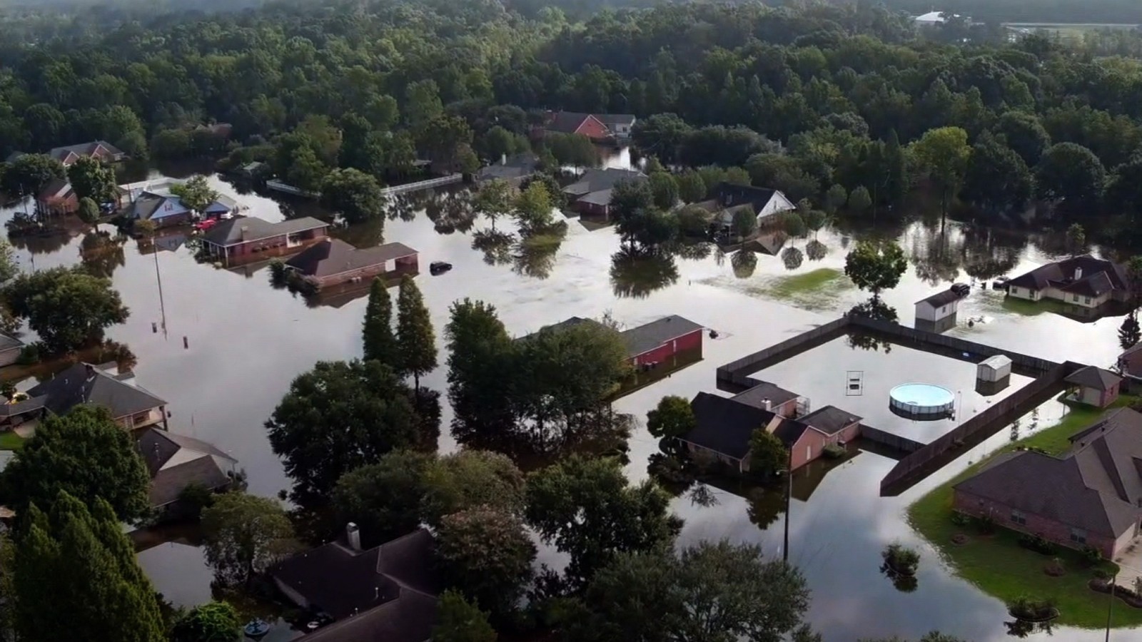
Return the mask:
<path fill-rule="evenodd" d="M 1088 532 L 1119 537 L 1142 512 L 1142 414 L 1109 411 L 1062 457 L 1002 455 L 954 488 Z"/>

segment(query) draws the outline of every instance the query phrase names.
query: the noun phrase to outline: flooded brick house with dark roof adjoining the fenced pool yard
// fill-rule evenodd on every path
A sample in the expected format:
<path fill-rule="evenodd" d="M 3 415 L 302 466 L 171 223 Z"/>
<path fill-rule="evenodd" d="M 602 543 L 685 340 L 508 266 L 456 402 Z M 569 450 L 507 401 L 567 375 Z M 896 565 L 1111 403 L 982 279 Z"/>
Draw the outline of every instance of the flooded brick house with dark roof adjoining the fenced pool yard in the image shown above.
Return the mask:
<path fill-rule="evenodd" d="M 826 406 L 793 419 L 766 410 L 764 400 L 758 401 L 698 393 L 690 403 L 697 424 L 679 441 L 693 456 L 710 458 L 732 471 L 746 473 L 749 471 L 749 441 L 757 430 L 765 430 L 781 440 L 789 449 L 789 468 L 794 471 L 820 458 L 827 447 L 847 443 L 860 435 L 861 418 L 839 408 Z"/>

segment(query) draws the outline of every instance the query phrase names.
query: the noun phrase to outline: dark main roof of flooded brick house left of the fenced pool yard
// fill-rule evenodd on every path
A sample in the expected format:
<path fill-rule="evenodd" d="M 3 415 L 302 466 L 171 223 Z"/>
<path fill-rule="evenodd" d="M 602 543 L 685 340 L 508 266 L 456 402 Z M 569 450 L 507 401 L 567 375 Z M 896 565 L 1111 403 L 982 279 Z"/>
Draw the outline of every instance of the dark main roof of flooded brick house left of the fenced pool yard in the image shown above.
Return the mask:
<path fill-rule="evenodd" d="M 708 392 L 698 393 L 690 408 L 694 411 L 695 425 L 683 441 L 734 459 L 743 459 L 754 431 L 777 417 L 769 410 Z"/>

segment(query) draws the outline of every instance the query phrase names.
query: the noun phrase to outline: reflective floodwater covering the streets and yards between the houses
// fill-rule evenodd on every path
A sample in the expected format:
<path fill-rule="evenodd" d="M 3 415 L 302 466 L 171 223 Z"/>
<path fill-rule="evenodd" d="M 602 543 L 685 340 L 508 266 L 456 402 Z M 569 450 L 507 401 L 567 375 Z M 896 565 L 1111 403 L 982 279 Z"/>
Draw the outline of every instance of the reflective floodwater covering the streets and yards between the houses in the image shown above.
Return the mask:
<path fill-rule="evenodd" d="M 280 219 L 287 214 L 309 214 L 313 206 L 282 211 L 273 200 L 239 194 L 220 180 L 216 188 L 249 208 L 247 214 Z M 439 203 L 433 211 L 447 210 Z M 6 210 L 3 218 L 13 210 Z M 884 217 L 882 217 L 884 218 Z M 1059 240 L 970 231 L 949 224 L 946 235 L 934 222 L 860 224 L 822 230 L 809 248 L 809 240 L 795 240 L 802 254 L 783 257 L 758 256 L 753 271 L 733 257 L 710 255 L 699 259 L 676 258 L 658 265 L 612 270 L 618 238 L 609 228 L 587 231 L 569 220 L 566 238 L 548 259 L 490 265 L 472 246 L 472 231 L 486 227 L 477 220 L 467 232 L 442 233 L 425 211 L 409 220 L 388 220 L 385 241 L 400 241 L 418 249 L 421 265 L 448 260 L 453 270 L 439 276 L 427 273 L 417 280 L 433 315 L 437 343 L 443 344 L 443 326 L 452 302 L 471 297 L 493 304 L 508 330 L 523 335 L 571 315 L 598 316 L 610 313 L 628 326 L 666 314 L 682 314 L 719 332 L 707 339 L 705 358 L 668 378 L 641 388 L 616 403 L 616 409 L 645 417 L 665 394 L 692 396 L 715 391 L 717 366 L 827 322 L 868 298 L 853 288 L 829 286 L 825 295 L 790 294 L 780 299 L 781 279 L 820 268 L 841 270 L 845 248 L 855 238 L 896 238 L 912 259 L 899 287 L 884 294 L 904 323 L 912 320 L 912 303 L 954 281 L 972 282 L 971 274 L 1014 275 L 1057 256 Z M 445 231 L 448 226 L 445 225 Z M 464 227 L 463 225 L 460 226 Z M 506 228 L 506 222 L 498 227 Z M 352 236 L 352 235 L 351 235 Z M 354 242 L 377 242 L 376 231 L 352 236 Z M 177 239 L 176 239 L 177 241 Z M 90 243 L 90 240 L 88 241 Z M 35 268 L 73 265 L 80 262 L 82 235 L 51 242 L 19 243 L 22 265 Z M 160 247 L 172 247 L 160 242 Z M 127 323 L 111 328 L 108 338 L 126 343 L 138 356 L 137 380 L 170 402 L 171 430 L 214 442 L 241 462 L 249 474 L 250 491 L 276 496 L 289 487 L 281 463 L 271 451 L 263 422 L 273 410 L 290 380 L 319 360 L 343 360 L 361 355 L 360 328 L 364 298 L 344 297 L 336 305 L 307 305 L 287 290 L 270 284 L 266 270 L 218 270 L 199 264 L 180 247 L 154 251 L 151 246 L 128 241 L 121 264 L 115 251 L 103 262 L 114 287 L 131 314 Z M 809 257 L 817 258 L 811 260 Z M 965 267 L 966 266 L 966 267 Z M 627 266 L 628 267 L 628 266 Z M 791 268 L 790 268 L 791 267 Z M 162 296 L 159 281 L 161 279 Z M 790 305 L 789 303 L 794 304 Z M 966 326 L 973 318 L 979 322 Z M 166 331 L 162 331 L 163 320 Z M 1003 296 L 973 288 L 962 303 L 960 326 L 951 332 L 1052 360 L 1108 366 L 1118 352 L 1118 319 L 1079 323 L 1055 314 L 1021 315 L 1007 311 Z M 158 324 L 159 331 L 152 331 Z M 184 347 L 184 337 L 187 346 Z M 759 377 L 801 392 L 814 407 L 833 403 L 863 415 L 884 430 L 926 441 L 941 426 L 908 422 L 888 414 L 887 390 L 899 383 L 920 380 L 963 392 L 957 420 L 987 404 L 972 392 L 973 367 L 935 358 L 901 346 L 887 354 L 827 344 L 780 363 Z M 442 348 L 443 350 L 443 348 Z M 445 355 L 441 354 L 441 363 Z M 847 370 L 862 370 L 864 393 L 845 395 Z M 424 385 L 444 391 L 445 369 L 423 378 Z M 1024 379 L 1013 377 L 1007 394 Z M 998 399 L 1002 396 L 990 398 Z M 1049 425 L 1057 408 L 1045 404 L 1039 420 Z M 440 448 L 456 448 L 448 434 L 450 411 L 444 409 Z M 1035 430 L 1023 419 L 1021 430 Z M 935 552 L 908 528 L 902 519 L 907 505 L 934 484 L 949 479 L 970 462 L 1010 439 L 1000 431 L 955 463 L 901 497 L 880 498 L 879 480 L 894 462 L 861 452 L 830 471 L 809 500 L 791 506 L 790 560 L 797 563 L 813 591 L 809 619 L 827 641 L 852 641 L 861 636 L 899 634 L 917 639 L 941 629 L 979 642 L 1006 637 L 1004 605 L 949 573 Z M 646 462 L 658 451 L 657 440 L 640 425 L 629 442 L 632 479 L 646 476 Z M 729 538 L 758 543 L 770 555 L 780 555 L 783 519 L 751 521 L 747 499 L 711 489 L 717 503 L 692 504 L 685 496 L 674 509 L 685 519 L 681 543 Z M 799 493 L 803 495 L 803 493 Z M 756 519 L 756 515 L 754 515 Z M 923 561 L 918 588 L 898 592 L 878 572 L 879 553 L 894 540 L 920 547 Z M 545 553 L 544 560 L 555 560 Z M 185 539 L 158 544 L 140 553 L 139 560 L 156 588 L 182 605 L 209 599 L 209 572 L 200 549 Z M 1059 637 L 1101 640 L 1099 632 L 1056 629 Z M 1116 640 L 1142 641 L 1142 632 L 1119 631 Z"/>

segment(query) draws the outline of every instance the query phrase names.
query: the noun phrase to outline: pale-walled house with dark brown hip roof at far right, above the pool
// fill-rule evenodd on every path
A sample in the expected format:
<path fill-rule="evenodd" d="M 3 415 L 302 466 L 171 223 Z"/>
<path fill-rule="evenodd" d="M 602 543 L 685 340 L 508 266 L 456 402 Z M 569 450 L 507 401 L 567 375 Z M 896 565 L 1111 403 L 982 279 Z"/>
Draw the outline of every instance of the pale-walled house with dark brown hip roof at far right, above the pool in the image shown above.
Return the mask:
<path fill-rule="evenodd" d="M 1126 268 L 1089 255 L 1048 263 L 1020 274 L 1007 281 L 1007 294 L 1027 300 L 1055 299 L 1086 308 L 1132 298 Z"/>

